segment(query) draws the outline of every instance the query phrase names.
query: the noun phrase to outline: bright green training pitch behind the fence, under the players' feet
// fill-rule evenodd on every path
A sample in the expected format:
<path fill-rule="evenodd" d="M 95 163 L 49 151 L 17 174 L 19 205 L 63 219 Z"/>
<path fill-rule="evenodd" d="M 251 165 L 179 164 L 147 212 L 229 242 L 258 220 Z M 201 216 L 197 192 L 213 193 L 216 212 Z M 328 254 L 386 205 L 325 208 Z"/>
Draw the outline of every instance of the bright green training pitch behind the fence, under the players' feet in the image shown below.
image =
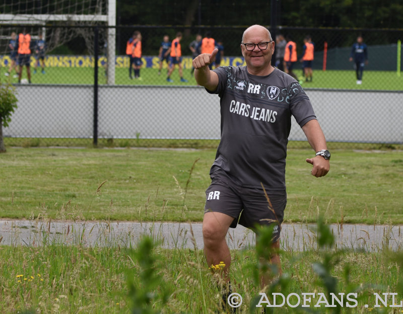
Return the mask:
<path fill-rule="evenodd" d="M 190 69 L 183 70 L 183 77 L 188 80 L 187 83 L 179 81 L 178 70 L 176 69 L 171 78 L 174 83 L 166 81 L 166 70 L 158 75 L 157 69 L 142 69 L 142 80 L 130 80 L 128 69 L 115 69 L 115 84 L 117 85 L 183 85 L 194 86 L 196 81 L 190 73 Z M 295 73 L 301 80 L 302 71 L 296 70 Z M 23 78 L 26 77 L 24 69 Z M 17 83 L 18 79 L 10 77 L 11 82 Z M 93 68 L 47 68 L 46 74 L 32 74 L 33 84 L 93 84 Z M 98 83 L 105 84 L 106 77 L 104 69 L 99 69 Z M 326 89 L 357 89 L 357 90 L 396 90 L 403 89 L 403 76 L 397 77 L 395 72 L 386 71 L 364 71 L 363 84 L 356 85 L 355 71 L 320 71 L 313 73 L 313 82 L 303 82 L 302 87 L 307 88 L 326 88 Z"/>

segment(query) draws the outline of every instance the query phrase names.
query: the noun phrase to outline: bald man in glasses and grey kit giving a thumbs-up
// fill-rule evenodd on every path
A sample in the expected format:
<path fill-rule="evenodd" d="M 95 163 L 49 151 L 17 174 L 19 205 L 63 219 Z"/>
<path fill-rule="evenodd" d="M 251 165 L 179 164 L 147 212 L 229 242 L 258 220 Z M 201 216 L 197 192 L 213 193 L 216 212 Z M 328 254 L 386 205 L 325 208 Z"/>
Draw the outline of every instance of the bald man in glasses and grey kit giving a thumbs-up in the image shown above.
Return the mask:
<path fill-rule="evenodd" d="M 217 49 L 193 59 L 197 84 L 220 97 L 221 141 L 206 191 L 203 238 L 208 265 L 225 264 L 222 306 L 229 311 L 233 311 L 227 304 L 232 292 L 231 255 L 225 236 L 230 227 L 239 223 L 256 232 L 261 225 L 271 225 L 268 262 L 281 273 L 278 249 L 287 204 L 285 167 L 291 115 L 315 151 L 306 159 L 312 175 L 321 177 L 329 171 L 330 153 L 311 102 L 294 78 L 271 66 L 274 48 L 270 32 L 253 25 L 242 36 L 246 66 L 211 71 Z M 261 276 L 262 287 L 273 275 Z"/>

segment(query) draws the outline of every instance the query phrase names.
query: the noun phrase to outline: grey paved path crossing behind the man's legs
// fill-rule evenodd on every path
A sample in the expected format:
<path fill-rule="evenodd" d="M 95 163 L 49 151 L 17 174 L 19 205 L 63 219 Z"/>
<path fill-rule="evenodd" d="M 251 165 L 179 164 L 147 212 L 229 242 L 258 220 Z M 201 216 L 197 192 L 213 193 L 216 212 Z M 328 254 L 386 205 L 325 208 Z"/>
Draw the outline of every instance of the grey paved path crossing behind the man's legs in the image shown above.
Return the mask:
<path fill-rule="evenodd" d="M 338 248 L 403 248 L 403 226 L 331 224 Z M 400 228 L 402 230 L 400 230 Z M 282 249 L 302 251 L 316 246 L 314 224 L 282 225 Z M 39 246 L 52 243 L 84 246 L 136 246 L 143 234 L 151 235 L 166 248 L 203 248 L 201 223 L 106 222 L 0 220 L 0 245 Z M 227 241 L 231 249 L 254 246 L 254 234 L 238 226 L 230 229 Z"/>

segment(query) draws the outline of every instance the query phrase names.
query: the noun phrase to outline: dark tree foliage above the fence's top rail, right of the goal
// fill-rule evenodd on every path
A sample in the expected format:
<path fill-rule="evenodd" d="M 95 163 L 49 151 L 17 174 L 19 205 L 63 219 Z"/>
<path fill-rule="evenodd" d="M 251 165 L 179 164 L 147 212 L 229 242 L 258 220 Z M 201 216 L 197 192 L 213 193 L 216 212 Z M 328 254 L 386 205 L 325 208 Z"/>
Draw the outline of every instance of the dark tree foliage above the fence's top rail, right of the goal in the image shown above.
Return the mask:
<path fill-rule="evenodd" d="M 272 0 L 276 1 L 276 0 Z M 288 27 L 401 28 L 401 0 L 277 0 L 278 24 Z M 189 10 L 195 6 L 197 10 Z M 118 2 L 122 25 L 270 25 L 271 1 L 154 0 Z M 192 16 L 188 16 L 192 15 Z M 186 25 L 187 26 L 187 25 Z"/>

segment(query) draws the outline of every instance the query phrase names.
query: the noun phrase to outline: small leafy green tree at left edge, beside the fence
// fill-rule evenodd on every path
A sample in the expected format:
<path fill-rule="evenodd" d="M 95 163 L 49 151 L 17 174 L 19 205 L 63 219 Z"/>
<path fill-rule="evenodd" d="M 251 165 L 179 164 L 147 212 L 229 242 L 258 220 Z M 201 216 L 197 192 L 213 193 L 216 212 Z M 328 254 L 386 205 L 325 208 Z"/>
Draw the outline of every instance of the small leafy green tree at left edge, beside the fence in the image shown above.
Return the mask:
<path fill-rule="evenodd" d="M 16 91 L 9 83 L 0 82 L 0 153 L 6 152 L 3 141 L 3 126 L 8 127 L 11 121 L 11 114 L 17 108 Z"/>

